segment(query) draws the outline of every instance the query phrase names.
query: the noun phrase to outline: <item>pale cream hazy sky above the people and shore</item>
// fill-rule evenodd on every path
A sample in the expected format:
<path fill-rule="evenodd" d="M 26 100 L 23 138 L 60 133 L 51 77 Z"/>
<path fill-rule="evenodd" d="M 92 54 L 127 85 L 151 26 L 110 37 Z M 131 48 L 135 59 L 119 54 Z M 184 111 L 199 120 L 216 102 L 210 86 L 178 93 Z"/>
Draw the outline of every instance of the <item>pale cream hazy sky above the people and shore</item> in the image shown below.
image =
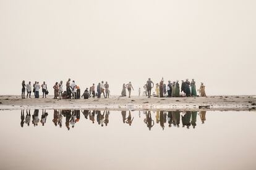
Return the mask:
<path fill-rule="evenodd" d="M 0 0 L 0 94 L 21 83 L 194 78 L 207 94 L 255 94 L 256 1 Z"/>

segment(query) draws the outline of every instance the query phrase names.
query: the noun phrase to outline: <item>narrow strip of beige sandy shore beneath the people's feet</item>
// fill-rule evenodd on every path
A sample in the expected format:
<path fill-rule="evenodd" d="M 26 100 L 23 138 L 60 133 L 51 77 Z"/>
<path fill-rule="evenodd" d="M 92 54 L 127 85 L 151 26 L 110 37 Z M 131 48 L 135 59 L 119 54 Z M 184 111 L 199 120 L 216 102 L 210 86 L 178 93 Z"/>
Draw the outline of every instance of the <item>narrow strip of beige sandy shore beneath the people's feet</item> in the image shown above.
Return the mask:
<path fill-rule="evenodd" d="M 49 95 L 47 99 L 21 99 L 17 95 L 0 95 L 1 110 L 17 109 L 98 109 L 98 110 L 200 110 L 199 106 L 209 105 L 203 110 L 255 110 L 256 96 L 253 95 L 224 95 L 209 97 L 119 97 L 109 99 L 72 99 L 58 100 Z"/>

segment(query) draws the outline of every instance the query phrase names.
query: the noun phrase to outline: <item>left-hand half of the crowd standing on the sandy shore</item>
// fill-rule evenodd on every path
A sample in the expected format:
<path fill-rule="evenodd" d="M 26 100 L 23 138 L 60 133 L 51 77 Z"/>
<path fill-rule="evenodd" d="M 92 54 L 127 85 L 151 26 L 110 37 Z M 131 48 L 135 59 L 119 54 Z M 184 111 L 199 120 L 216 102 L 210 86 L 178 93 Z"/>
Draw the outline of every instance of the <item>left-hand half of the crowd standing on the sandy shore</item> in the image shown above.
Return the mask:
<path fill-rule="evenodd" d="M 33 89 L 32 89 L 33 87 Z M 22 81 L 22 99 L 25 99 L 25 91 L 27 89 L 27 98 L 31 98 L 31 92 L 34 93 L 35 98 L 39 98 L 39 92 L 40 88 L 42 88 L 43 92 L 43 98 L 46 98 L 46 95 L 48 95 L 48 88 L 47 84 L 45 81 L 43 84 L 39 84 L 38 81 L 35 81 L 35 84 L 31 84 L 29 81 L 28 84 L 25 84 L 25 81 Z M 109 84 L 106 81 L 101 81 L 101 83 L 98 83 L 98 86 L 96 87 L 96 92 L 95 92 L 95 84 L 92 84 L 90 87 L 90 90 L 88 91 L 88 88 L 85 89 L 83 92 L 82 96 L 83 99 L 88 99 L 89 97 L 95 97 L 95 95 L 100 98 L 101 94 L 104 95 L 105 98 L 109 98 Z M 56 82 L 53 86 L 54 89 L 54 99 L 80 99 L 80 87 L 75 84 L 75 81 L 73 80 L 71 82 L 71 79 L 69 78 L 66 83 L 66 91 L 64 91 L 63 88 L 63 81 L 60 81 L 59 83 Z"/>

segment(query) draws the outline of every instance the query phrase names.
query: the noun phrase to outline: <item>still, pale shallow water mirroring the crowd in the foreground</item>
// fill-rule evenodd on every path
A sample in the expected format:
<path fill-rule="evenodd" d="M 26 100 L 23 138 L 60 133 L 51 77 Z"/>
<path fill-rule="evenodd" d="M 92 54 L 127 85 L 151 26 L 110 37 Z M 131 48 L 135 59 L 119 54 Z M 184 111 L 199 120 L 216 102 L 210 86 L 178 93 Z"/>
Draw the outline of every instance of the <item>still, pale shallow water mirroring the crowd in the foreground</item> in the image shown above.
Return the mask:
<path fill-rule="evenodd" d="M 256 168 L 255 112 L 26 112 L 0 111 L 0 169 Z"/>

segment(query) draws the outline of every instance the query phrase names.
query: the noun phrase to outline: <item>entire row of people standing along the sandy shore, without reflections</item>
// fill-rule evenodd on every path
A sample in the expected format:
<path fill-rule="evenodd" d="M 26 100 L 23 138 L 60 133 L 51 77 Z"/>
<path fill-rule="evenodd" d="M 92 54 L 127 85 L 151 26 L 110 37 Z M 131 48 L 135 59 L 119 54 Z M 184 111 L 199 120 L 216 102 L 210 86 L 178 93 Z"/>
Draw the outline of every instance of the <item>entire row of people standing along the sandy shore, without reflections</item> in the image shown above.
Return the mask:
<path fill-rule="evenodd" d="M 198 96 L 197 90 L 195 86 L 195 80 L 192 79 L 190 82 L 189 79 L 186 79 L 186 81 L 182 80 L 181 88 L 179 86 L 179 81 L 168 81 L 168 84 L 164 84 L 164 79 L 162 78 L 160 83 L 154 84 L 153 81 L 151 81 L 150 78 L 148 78 L 147 83 L 143 86 L 143 95 L 148 96 L 148 98 L 151 97 L 151 90 L 155 86 L 155 92 L 153 92 L 153 97 L 180 97 L 180 96 Z M 33 87 L 33 89 L 32 89 Z M 29 81 L 28 84 L 25 84 L 25 81 L 22 81 L 22 99 L 25 99 L 25 90 L 27 89 L 27 98 L 31 98 L 31 92 L 34 92 L 35 98 L 39 98 L 39 91 L 40 88 L 42 88 L 43 92 L 43 98 L 46 98 L 46 95 L 48 95 L 48 88 L 45 81 L 43 84 L 39 84 L 38 81 L 35 81 L 35 84 L 31 84 Z M 71 79 L 69 78 L 66 82 L 66 91 L 63 89 L 63 81 L 60 81 L 59 83 L 56 82 L 53 86 L 54 89 L 54 99 L 80 99 L 80 87 L 75 84 L 75 81 L 73 80 L 71 82 Z M 95 91 L 96 89 L 96 91 Z M 122 85 L 122 92 L 121 96 L 126 96 L 126 89 L 129 92 L 129 98 L 131 95 L 132 90 L 134 90 L 134 87 L 132 86 L 132 83 L 129 82 L 127 84 Z M 205 85 L 201 83 L 200 88 L 198 89 L 198 92 L 200 93 L 201 97 L 207 97 L 205 94 Z M 98 83 L 98 85 L 95 87 L 95 84 L 92 84 L 90 89 L 85 89 L 85 91 L 82 94 L 83 99 L 88 99 L 89 97 L 98 97 L 101 98 L 101 95 L 105 98 L 109 98 L 109 84 L 106 81 L 101 81 L 101 83 Z M 141 94 L 141 89 L 139 88 L 139 96 Z"/>

